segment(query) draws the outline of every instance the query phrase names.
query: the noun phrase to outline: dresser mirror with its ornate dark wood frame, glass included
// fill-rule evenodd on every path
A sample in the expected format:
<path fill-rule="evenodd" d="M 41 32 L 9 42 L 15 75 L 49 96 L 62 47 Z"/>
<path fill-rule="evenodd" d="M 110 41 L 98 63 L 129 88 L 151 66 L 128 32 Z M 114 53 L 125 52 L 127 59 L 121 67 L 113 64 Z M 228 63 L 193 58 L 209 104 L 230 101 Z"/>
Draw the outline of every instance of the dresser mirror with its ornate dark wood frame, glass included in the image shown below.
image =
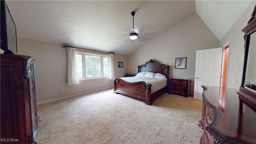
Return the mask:
<path fill-rule="evenodd" d="M 244 68 L 239 94 L 240 102 L 256 111 L 256 5 L 244 35 Z"/>

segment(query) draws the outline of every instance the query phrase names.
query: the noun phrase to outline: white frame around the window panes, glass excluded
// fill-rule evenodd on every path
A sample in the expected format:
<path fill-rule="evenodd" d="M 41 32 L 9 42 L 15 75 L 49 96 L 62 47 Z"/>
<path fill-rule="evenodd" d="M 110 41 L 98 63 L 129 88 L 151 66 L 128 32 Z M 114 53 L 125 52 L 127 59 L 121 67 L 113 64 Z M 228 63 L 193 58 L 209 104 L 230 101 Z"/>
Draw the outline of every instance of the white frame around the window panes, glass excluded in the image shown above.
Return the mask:
<path fill-rule="evenodd" d="M 79 78 L 80 80 L 91 80 L 91 79 L 99 79 L 99 78 L 108 78 L 109 77 L 109 60 L 110 57 L 107 54 L 95 54 L 95 53 L 90 53 L 90 52 L 81 52 L 81 51 L 76 51 L 76 55 L 82 55 L 82 78 Z M 86 62 L 85 62 L 85 57 L 86 55 L 88 56 L 100 56 L 100 65 L 101 65 L 101 76 L 96 76 L 96 77 L 90 77 L 86 78 Z M 103 63 L 103 58 L 108 58 L 108 76 L 104 76 L 104 63 Z"/>

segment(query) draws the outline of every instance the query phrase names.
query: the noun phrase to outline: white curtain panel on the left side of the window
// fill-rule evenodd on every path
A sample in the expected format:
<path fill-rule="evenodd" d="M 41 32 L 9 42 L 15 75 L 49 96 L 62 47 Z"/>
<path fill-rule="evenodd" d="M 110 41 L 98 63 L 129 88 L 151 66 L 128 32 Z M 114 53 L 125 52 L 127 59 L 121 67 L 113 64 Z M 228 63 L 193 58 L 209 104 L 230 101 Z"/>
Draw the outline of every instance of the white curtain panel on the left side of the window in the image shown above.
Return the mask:
<path fill-rule="evenodd" d="M 68 85 L 79 84 L 76 66 L 76 48 L 67 47 L 68 54 Z"/>

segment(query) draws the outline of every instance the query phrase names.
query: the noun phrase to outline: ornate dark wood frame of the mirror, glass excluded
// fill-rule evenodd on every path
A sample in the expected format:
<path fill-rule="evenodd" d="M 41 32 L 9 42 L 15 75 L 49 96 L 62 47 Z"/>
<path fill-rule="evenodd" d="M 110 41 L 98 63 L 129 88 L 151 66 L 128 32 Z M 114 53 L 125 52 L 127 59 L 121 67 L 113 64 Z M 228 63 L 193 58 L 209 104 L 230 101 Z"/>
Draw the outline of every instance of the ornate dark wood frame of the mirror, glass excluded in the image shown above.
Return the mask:
<path fill-rule="evenodd" d="M 242 73 L 242 82 L 240 85 L 240 90 L 237 92 L 239 95 L 240 102 L 248 105 L 254 111 L 256 111 L 256 92 L 250 88 L 246 88 L 246 70 L 248 67 L 248 56 L 249 56 L 249 45 L 250 45 L 250 36 L 253 33 L 256 33 L 256 5 L 252 12 L 251 18 L 248 21 L 246 27 L 242 29 L 244 35 L 244 68 Z M 255 63 L 254 63 L 255 64 Z"/>

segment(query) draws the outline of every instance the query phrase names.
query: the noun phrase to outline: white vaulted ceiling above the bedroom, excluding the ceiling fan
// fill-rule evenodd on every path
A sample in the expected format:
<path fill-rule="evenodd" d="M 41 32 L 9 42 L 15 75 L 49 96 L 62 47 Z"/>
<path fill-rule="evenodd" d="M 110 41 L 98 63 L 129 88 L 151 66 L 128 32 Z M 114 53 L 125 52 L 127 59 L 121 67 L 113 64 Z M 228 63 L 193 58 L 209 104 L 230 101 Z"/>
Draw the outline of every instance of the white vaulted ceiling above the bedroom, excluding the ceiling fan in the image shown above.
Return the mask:
<path fill-rule="evenodd" d="M 196 12 L 220 40 L 252 0 L 7 0 L 17 37 L 128 55 Z M 130 40 L 134 11 L 134 32 Z"/>

